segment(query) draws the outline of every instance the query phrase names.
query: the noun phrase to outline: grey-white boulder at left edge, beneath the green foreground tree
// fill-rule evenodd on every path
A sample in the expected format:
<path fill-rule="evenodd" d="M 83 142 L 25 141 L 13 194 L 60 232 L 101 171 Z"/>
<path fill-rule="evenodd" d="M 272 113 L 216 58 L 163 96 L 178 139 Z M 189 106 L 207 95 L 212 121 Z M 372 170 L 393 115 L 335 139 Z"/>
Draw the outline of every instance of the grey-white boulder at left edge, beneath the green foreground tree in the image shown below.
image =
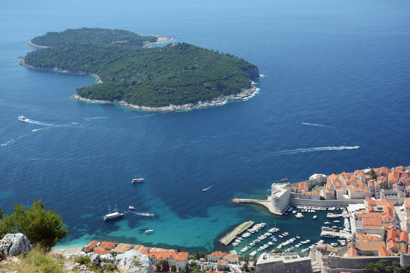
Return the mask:
<path fill-rule="evenodd" d="M 22 233 L 6 234 L 0 241 L 0 259 L 27 254 L 30 250 L 32 250 L 30 241 Z"/>

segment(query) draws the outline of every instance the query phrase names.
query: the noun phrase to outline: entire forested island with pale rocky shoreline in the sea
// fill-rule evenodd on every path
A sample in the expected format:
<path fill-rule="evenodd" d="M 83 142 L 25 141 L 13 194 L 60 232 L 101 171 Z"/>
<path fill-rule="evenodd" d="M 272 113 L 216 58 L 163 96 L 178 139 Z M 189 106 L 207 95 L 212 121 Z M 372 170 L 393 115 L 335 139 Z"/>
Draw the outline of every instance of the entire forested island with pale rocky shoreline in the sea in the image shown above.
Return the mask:
<path fill-rule="evenodd" d="M 78 88 L 73 98 L 145 110 L 198 107 L 256 92 L 257 66 L 187 43 L 146 48 L 159 37 L 85 27 L 48 32 L 28 43 L 41 49 L 27 53 L 21 65 L 93 75 L 98 84 Z"/>

